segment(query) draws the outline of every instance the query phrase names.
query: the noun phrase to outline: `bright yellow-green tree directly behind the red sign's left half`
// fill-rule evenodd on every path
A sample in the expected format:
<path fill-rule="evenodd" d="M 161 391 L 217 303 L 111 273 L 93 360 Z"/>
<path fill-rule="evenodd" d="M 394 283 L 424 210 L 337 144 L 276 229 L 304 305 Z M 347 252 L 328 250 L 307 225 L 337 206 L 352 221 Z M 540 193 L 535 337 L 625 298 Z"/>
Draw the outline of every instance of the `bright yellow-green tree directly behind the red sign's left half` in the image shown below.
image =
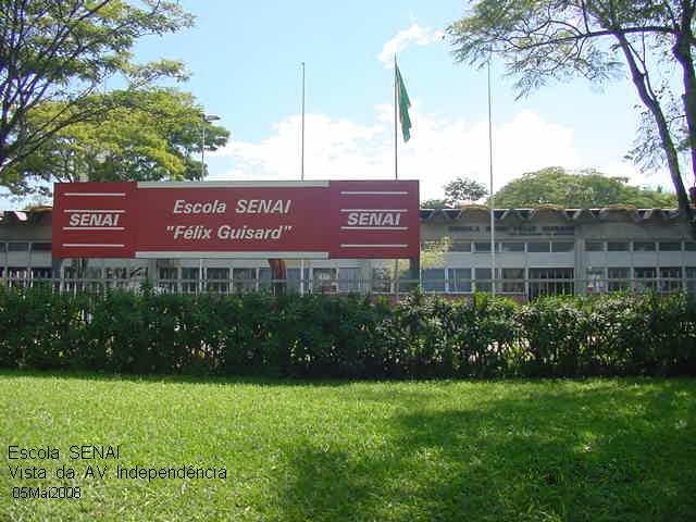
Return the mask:
<path fill-rule="evenodd" d="M 46 192 L 37 181 L 200 179 L 203 127 L 207 150 L 225 145 L 229 136 L 204 119 L 187 92 L 127 89 L 95 98 L 95 104 L 113 109 L 62 128 L 9 166 L 5 185 L 13 194 Z M 41 127 L 62 111 L 63 102 L 45 102 L 32 111 L 27 128 Z"/>

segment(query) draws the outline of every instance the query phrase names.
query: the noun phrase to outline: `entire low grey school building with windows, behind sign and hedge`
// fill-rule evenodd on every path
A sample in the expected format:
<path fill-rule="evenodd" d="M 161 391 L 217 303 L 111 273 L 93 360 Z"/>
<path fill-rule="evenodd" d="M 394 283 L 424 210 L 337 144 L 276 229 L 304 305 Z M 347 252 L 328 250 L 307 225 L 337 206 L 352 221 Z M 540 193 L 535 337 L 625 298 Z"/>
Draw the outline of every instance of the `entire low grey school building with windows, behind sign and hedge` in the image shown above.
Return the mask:
<path fill-rule="evenodd" d="M 624 288 L 672 293 L 696 290 L 696 240 L 672 210 L 556 207 L 494 212 L 485 207 L 420 211 L 422 248 L 449 238 L 449 248 L 419 273 L 400 274 L 401 288 L 415 279 L 425 291 L 467 295 L 495 291 L 519 298 Z M 401 262 L 406 269 L 408 263 Z M 492 272 L 495 266 L 495 272 Z M 389 260 L 287 260 L 287 283 L 298 291 L 394 291 Z M 128 287 L 145 279 L 171 291 L 249 291 L 271 288 L 268 260 L 90 259 L 51 256 L 51 209 L 0 212 L 0 281 L 26 284 L 57 278 L 66 287 Z M 409 281 L 410 279 L 410 281 Z M 80 281 L 80 283 L 77 283 Z M 71 286 L 72 285 L 72 286 Z"/>

